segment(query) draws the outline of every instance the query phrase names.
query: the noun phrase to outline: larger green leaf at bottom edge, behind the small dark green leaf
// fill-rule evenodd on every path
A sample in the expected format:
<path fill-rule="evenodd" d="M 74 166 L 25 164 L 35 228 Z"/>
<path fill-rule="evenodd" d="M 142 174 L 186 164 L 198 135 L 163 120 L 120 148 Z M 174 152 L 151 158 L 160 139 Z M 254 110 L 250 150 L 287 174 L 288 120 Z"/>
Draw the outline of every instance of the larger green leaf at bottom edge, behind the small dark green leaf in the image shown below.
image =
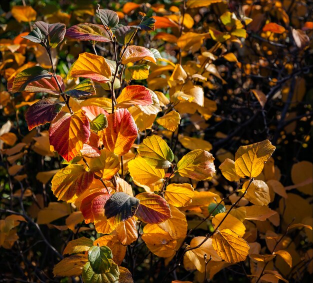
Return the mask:
<path fill-rule="evenodd" d="M 96 273 L 92 270 L 90 262 L 86 262 L 82 267 L 82 280 L 94 283 L 118 283 L 119 270 L 117 264 L 112 262 L 108 272 Z"/>

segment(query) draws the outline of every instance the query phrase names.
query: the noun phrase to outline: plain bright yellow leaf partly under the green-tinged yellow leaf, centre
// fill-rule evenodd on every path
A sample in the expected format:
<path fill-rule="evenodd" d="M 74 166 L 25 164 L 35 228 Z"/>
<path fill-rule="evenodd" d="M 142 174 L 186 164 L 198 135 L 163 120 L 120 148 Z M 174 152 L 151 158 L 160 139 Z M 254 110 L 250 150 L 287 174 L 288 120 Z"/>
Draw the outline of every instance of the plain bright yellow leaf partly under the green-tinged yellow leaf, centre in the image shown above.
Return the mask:
<path fill-rule="evenodd" d="M 164 169 L 149 165 L 144 158 L 136 157 L 128 162 L 130 176 L 142 185 L 153 186 L 163 181 Z"/>

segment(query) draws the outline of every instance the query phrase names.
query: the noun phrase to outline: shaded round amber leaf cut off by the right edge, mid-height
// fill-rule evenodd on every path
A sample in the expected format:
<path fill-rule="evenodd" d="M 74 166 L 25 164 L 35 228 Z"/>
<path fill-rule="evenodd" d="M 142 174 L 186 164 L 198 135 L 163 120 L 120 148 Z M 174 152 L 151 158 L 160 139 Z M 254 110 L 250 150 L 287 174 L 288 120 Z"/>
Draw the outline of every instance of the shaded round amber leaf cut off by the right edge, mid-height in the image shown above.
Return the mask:
<path fill-rule="evenodd" d="M 291 180 L 294 184 L 301 183 L 313 177 L 313 164 L 309 161 L 300 161 L 294 163 L 291 168 Z M 297 189 L 305 194 L 312 195 L 312 184 L 308 183 L 303 186 L 298 186 Z"/>

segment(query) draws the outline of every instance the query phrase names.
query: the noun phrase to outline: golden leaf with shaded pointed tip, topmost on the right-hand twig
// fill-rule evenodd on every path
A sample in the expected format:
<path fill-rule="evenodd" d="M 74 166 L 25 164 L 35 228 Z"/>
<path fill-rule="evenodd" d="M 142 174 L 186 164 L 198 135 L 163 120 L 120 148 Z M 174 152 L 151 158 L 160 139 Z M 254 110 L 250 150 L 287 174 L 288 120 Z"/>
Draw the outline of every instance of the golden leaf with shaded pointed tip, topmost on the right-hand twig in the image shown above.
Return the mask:
<path fill-rule="evenodd" d="M 275 148 L 268 139 L 240 146 L 235 154 L 235 170 L 238 176 L 258 176 Z"/>

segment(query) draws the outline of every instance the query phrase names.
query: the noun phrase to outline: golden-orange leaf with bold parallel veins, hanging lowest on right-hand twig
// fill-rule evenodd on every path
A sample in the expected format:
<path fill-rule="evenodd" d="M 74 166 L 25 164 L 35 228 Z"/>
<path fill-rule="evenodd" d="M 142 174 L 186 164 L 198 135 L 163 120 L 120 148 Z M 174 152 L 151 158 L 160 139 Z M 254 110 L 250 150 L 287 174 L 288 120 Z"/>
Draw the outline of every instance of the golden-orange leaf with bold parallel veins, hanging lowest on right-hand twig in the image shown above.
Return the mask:
<path fill-rule="evenodd" d="M 222 229 L 214 233 L 212 245 L 217 254 L 229 263 L 245 260 L 250 248 L 243 238 L 229 229 Z"/>

